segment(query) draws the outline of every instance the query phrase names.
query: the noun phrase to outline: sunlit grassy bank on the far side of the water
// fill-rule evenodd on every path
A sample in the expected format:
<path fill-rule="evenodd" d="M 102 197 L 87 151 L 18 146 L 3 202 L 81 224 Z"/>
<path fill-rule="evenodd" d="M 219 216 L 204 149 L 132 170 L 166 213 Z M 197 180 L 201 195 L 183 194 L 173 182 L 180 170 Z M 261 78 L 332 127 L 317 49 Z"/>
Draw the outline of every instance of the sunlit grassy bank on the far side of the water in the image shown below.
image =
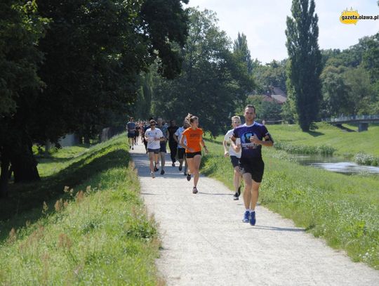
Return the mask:
<path fill-rule="evenodd" d="M 356 126 L 344 125 L 350 132 L 326 123 L 318 129 L 302 132 L 298 125 L 270 125 L 277 149 L 293 153 L 339 155 L 359 164 L 379 165 L 379 125 L 357 132 Z"/>

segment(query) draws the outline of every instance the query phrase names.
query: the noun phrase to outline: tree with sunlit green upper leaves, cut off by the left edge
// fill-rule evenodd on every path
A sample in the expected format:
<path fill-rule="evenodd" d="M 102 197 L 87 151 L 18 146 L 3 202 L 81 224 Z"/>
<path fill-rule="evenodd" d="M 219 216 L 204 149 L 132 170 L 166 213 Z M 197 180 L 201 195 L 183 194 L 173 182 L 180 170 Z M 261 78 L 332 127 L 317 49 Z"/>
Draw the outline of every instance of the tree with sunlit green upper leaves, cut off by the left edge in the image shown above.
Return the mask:
<path fill-rule="evenodd" d="M 26 104 L 33 101 L 36 90 L 43 86 L 37 74 L 43 55 L 36 46 L 44 35 L 44 25 L 48 21 L 37 15 L 35 1 L 23 2 L 5 0 L 0 4 L 0 197 L 8 193 L 9 164 L 15 162 L 17 155 L 28 163 L 29 178 L 39 179 L 34 158 L 20 155 L 22 148 L 23 153 L 28 154 L 31 146 L 25 142 L 27 140 L 19 126 L 12 128 L 11 120 L 20 109 L 20 98 L 27 96 Z M 20 145 L 23 147 L 20 148 Z M 18 148 L 18 152 L 12 153 L 12 148 Z M 25 167 L 15 164 L 13 169 L 18 181 L 20 171 Z"/>

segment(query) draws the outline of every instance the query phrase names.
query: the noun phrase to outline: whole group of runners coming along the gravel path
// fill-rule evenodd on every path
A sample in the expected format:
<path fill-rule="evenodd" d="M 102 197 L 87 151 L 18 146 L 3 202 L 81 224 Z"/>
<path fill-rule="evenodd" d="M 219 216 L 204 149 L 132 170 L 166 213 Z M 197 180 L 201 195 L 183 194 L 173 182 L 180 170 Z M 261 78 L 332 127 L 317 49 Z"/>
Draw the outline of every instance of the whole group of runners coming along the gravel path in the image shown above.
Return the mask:
<path fill-rule="evenodd" d="M 253 105 L 246 106 L 244 117 L 244 124 L 241 124 L 239 116 L 232 117 L 233 129 L 227 131 L 222 145 L 225 157 L 230 157 L 230 162 L 234 168 L 234 200 L 239 200 L 241 178 L 244 180 L 245 212 L 242 221 L 255 226 L 255 207 L 265 169 L 261 150 L 262 146 L 272 146 L 274 141 L 265 125 L 254 121 L 255 107 Z M 133 129 L 135 132 L 135 126 L 133 128 L 131 123 L 133 123 L 133 119 L 127 124 L 130 141 Z M 198 193 L 201 150 L 204 149 L 204 152 L 208 153 L 203 139 L 204 132 L 199 128 L 199 118 L 188 114 L 181 127 L 176 126 L 174 120 L 171 120 L 168 125 L 161 118 L 158 118 L 157 121 L 150 118 L 148 125 L 145 124 L 141 128 L 142 124 L 140 124 L 140 131 L 149 154 L 149 169 L 152 178 L 155 178 L 154 173 L 159 171 L 159 167 L 161 167 L 161 175 L 165 174 L 165 155 L 168 142 L 172 166 L 175 167 L 176 155 L 178 154 L 179 171 L 182 171 L 184 164 L 184 175 L 187 181 L 191 181 L 192 176 L 194 178 L 192 193 Z M 161 166 L 159 166 L 159 161 Z"/>

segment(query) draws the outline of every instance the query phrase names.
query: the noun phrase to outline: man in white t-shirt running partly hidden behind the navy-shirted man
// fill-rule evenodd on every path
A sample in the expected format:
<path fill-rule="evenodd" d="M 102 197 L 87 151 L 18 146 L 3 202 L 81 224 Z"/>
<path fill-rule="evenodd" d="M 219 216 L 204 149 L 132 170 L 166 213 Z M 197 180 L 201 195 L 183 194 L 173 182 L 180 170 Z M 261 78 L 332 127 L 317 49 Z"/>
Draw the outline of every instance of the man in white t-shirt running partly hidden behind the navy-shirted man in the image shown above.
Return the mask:
<path fill-rule="evenodd" d="M 232 162 L 232 166 L 234 168 L 234 200 L 239 200 L 239 195 L 241 195 L 241 174 L 239 173 L 239 158 L 241 158 L 241 150 L 239 152 L 234 151 L 232 145 L 229 146 L 229 150 L 227 149 L 227 144 L 230 144 L 230 137 L 233 135 L 233 130 L 237 126 L 241 125 L 241 118 L 239 116 L 232 117 L 232 126 L 233 129 L 227 131 L 225 134 L 224 141 L 222 141 L 222 145 L 224 146 L 224 157 L 230 156 L 230 162 Z M 238 138 L 238 140 L 240 140 Z"/>

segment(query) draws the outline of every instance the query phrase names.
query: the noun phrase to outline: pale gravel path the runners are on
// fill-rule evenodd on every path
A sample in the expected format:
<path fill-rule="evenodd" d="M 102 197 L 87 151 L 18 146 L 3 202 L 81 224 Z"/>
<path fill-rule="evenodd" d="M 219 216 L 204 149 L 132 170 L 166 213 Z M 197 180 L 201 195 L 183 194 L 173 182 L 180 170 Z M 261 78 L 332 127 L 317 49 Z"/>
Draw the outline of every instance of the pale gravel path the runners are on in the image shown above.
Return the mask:
<path fill-rule="evenodd" d="M 379 285 L 379 271 L 265 207 L 256 209 L 256 226 L 242 223 L 242 200 L 233 201 L 222 183 L 201 176 L 193 195 L 193 178 L 187 182 L 168 155 L 166 174 L 156 178 L 143 145 L 131 155 L 148 212 L 159 223 L 157 266 L 168 285 Z"/>

